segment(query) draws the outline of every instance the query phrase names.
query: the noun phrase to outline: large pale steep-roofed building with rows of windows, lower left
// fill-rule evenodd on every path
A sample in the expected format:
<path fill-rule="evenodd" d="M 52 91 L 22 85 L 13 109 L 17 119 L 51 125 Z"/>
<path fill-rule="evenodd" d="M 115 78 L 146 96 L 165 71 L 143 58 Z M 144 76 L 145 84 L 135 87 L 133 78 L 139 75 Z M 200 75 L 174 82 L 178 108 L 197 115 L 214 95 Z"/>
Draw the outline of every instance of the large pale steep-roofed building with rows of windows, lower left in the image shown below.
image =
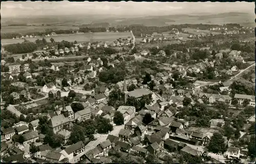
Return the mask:
<path fill-rule="evenodd" d="M 57 133 L 58 131 L 62 130 L 65 126 L 72 126 L 72 123 L 67 117 L 61 114 L 52 117 L 49 121 L 48 126 L 50 129 L 53 130 L 54 133 Z"/>

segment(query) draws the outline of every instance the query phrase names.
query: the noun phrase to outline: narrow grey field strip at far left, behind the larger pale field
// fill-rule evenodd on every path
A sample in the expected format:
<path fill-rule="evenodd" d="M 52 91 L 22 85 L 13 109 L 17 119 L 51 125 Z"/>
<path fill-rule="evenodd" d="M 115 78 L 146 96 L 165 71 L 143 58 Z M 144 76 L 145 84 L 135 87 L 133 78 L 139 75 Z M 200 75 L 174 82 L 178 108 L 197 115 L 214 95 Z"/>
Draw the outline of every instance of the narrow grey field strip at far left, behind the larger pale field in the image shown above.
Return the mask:
<path fill-rule="evenodd" d="M 44 32 L 45 30 L 79 30 L 78 26 L 51 25 L 51 26 L 2 26 L 1 33 L 20 33 L 25 35 L 32 32 Z"/>

